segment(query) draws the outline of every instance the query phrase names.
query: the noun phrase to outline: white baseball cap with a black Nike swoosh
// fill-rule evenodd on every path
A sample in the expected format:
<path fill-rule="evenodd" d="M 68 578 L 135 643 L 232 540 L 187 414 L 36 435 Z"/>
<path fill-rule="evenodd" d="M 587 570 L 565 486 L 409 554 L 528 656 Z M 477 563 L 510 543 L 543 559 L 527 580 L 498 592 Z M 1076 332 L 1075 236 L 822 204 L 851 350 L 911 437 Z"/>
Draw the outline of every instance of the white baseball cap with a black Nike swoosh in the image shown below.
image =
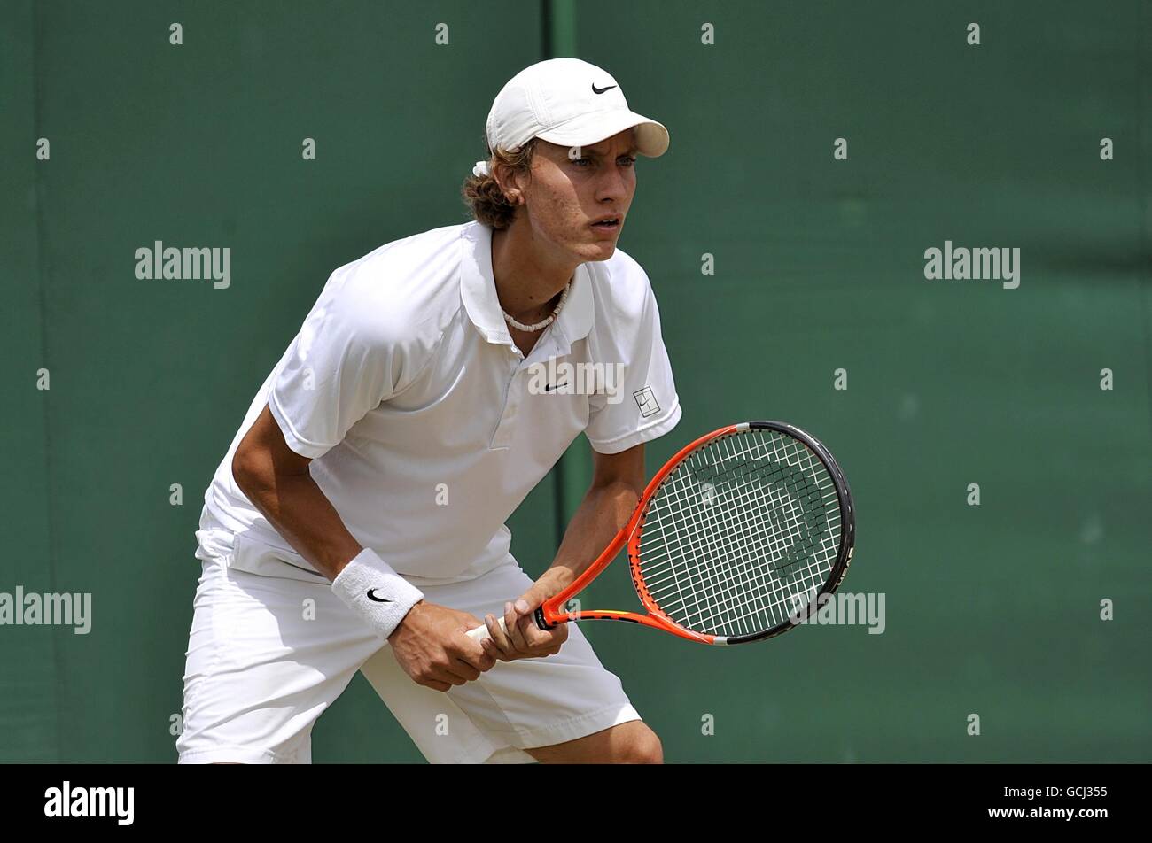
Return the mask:
<path fill-rule="evenodd" d="M 524 68 L 500 89 L 488 112 L 488 151 L 515 151 L 533 137 L 560 146 L 591 146 L 634 127 L 642 155 L 659 158 L 667 151 L 668 130 L 631 111 L 612 74 L 579 59 L 548 59 Z M 486 164 L 478 161 L 472 172 L 486 174 Z"/>

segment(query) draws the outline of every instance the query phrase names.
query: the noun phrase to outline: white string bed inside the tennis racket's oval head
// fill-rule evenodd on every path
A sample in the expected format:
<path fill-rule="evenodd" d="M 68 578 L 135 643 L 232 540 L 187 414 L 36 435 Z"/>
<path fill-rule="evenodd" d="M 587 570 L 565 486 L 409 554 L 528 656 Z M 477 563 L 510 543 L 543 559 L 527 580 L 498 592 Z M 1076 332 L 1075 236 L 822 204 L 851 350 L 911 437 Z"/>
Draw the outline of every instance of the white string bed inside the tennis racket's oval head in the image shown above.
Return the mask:
<path fill-rule="evenodd" d="M 639 579 L 683 626 L 764 631 L 827 582 L 840 526 L 835 484 L 803 442 L 776 431 L 727 435 L 690 454 L 657 491 Z"/>

